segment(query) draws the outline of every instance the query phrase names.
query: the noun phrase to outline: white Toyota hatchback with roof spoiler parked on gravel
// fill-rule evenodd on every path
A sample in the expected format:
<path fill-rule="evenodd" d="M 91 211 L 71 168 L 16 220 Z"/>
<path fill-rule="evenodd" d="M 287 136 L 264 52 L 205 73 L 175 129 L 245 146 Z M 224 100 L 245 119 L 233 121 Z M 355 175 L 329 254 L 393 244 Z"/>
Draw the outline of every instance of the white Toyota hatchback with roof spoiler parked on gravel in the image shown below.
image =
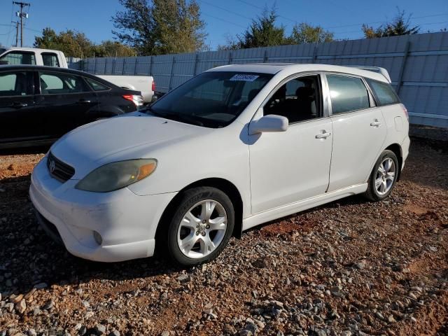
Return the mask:
<path fill-rule="evenodd" d="M 349 195 L 383 200 L 405 165 L 409 123 L 381 73 L 206 71 L 146 111 L 59 139 L 31 177 L 39 222 L 81 258 L 158 250 L 190 266 L 255 225 Z"/>

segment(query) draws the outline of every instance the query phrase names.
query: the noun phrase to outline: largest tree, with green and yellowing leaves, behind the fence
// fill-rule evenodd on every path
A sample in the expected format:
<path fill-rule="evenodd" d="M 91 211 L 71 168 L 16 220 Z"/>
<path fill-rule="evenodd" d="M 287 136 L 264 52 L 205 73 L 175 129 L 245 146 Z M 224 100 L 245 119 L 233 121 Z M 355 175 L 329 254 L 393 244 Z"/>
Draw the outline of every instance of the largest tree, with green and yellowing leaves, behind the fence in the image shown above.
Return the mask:
<path fill-rule="evenodd" d="M 196 0 L 120 0 L 124 11 L 112 18 L 112 31 L 139 55 L 206 50 L 205 23 Z"/>

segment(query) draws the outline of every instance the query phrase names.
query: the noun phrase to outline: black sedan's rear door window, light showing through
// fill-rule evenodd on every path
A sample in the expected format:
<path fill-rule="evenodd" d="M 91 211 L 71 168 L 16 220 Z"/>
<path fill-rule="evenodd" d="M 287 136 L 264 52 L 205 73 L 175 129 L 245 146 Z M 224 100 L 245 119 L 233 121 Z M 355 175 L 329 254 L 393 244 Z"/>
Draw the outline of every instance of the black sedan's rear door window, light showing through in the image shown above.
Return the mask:
<path fill-rule="evenodd" d="M 90 89 L 80 76 L 69 73 L 41 72 L 39 73 L 42 94 L 67 94 L 88 92 Z"/>

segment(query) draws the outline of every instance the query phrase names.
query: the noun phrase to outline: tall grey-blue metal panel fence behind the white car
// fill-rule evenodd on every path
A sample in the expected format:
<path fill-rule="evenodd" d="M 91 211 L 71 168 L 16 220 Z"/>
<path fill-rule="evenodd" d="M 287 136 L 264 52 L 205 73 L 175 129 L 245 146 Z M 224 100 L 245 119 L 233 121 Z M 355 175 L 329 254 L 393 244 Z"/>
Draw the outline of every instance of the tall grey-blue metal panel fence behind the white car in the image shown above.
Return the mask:
<path fill-rule="evenodd" d="M 448 32 L 318 45 L 89 58 L 71 62 L 70 67 L 96 74 L 151 75 L 158 90 L 167 92 L 215 66 L 257 62 L 382 66 L 407 106 L 411 123 L 448 127 Z"/>

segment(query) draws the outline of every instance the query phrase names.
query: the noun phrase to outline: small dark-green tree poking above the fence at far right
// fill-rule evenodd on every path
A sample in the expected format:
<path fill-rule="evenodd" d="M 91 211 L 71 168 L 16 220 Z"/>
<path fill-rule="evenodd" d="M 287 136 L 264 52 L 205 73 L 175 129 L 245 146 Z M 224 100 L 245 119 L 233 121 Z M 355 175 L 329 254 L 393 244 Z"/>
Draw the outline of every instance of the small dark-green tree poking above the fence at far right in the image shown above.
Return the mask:
<path fill-rule="evenodd" d="M 400 11 L 393 18 L 392 22 L 387 22 L 386 25 L 381 25 L 376 29 L 369 25 L 363 25 L 363 33 L 366 38 L 386 37 L 386 36 L 400 36 L 417 34 L 420 30 L 419 26 L 411 27 L 410 20 L 412 15 L 406 17 L 405 11 Z"/>

